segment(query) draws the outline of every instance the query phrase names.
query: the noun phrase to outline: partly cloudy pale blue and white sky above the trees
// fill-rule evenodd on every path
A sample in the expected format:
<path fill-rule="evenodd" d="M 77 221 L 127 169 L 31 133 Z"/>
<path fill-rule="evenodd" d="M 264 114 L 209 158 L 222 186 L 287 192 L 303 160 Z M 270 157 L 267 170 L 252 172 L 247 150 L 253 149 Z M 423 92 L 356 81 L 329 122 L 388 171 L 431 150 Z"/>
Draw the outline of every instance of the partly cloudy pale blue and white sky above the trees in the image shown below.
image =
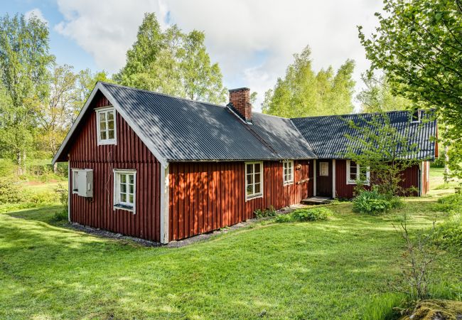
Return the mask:
<path fill-rule="evenodd" d="M 48 23 L 59 64 L 112 74 L 123 67 L 144 13 L 155 12 L 163 28 L 204 31 L 225 87 L 256 91 L 260 110 L 264 92 L 307 45 L 315 70 L 355 60 L 358 93 L 369 63 L 357 26 L 371 33 L 381 8 L 381 0 L 15 0 L 2 1 L 0 14 L 35 14 Z"/>

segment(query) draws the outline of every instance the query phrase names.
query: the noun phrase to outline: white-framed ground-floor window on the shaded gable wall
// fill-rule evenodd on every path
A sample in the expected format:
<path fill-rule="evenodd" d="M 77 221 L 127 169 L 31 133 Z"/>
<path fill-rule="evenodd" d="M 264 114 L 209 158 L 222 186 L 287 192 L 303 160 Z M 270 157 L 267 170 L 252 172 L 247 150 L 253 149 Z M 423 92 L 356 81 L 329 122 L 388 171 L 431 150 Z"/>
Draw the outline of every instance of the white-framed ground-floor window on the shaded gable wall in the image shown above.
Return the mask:
<path fill-rule="evenodd" d="M 114 169 L 114 209 L 136 209 L 136 170 Z"/>

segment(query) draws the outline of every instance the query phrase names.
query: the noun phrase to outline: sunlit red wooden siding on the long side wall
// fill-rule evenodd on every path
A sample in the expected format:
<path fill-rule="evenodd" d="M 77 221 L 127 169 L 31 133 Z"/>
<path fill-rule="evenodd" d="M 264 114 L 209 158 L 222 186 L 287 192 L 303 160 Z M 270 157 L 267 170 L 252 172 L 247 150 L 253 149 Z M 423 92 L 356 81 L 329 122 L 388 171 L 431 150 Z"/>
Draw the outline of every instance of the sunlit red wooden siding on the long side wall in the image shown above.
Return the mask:
<path fill-rule="evenodd" d="M 294 183 L 284 186 L 282 162 L 265 161 L 263 197 L 246 202 L 244 162 L 171 163 L 169 240 L 240 223 L 257 209 L 299 203 L 313 194 L 312 179 L 307 180 L 311 164 L 294 161 Z"/>

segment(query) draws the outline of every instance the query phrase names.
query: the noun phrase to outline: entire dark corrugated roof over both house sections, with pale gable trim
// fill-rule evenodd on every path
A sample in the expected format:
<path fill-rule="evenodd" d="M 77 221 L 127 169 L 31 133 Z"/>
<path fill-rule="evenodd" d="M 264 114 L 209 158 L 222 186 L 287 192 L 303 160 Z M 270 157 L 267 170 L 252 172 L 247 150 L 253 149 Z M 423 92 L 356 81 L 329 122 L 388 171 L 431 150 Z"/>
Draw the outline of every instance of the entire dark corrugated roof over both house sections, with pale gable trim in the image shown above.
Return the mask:
<path fill-rule="evenodd" d="M 254 112 L 252 124 L 247 124 L 230 107 L 97 82 L 53 163 L 65 159 L 66 145 L 98 91 L 106 95 L 163 166 L 168 161 L 341 159 L 350 144 L 345 134 L 358 135 L 345 120 L 360 123 L 372 117 L 347 114 L 286 119 Z M 431 137 L 436 137 L 436 120 L 430 119 L 431 112 L 424 114 L 421 123 L 412 124 L 409 112 L 388 114 L 400 132 L 409 127 L 409 137 L 419 145 L 418 159 L 434 159 Z"/>

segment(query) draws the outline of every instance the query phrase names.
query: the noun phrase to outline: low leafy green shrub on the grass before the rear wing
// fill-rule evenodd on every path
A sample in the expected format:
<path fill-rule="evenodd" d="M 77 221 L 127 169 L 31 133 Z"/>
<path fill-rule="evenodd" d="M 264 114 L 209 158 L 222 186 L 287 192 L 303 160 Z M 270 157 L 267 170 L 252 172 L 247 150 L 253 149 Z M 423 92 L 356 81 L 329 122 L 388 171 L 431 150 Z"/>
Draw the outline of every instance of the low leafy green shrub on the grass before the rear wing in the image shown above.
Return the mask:
<path fill-rule="evenodd" d="M 353 211 L 376 215 L 384 213 L 397 205 L 398 201 L 380 194 L 376 189 L 362 191 L 353 199 Z"/>

